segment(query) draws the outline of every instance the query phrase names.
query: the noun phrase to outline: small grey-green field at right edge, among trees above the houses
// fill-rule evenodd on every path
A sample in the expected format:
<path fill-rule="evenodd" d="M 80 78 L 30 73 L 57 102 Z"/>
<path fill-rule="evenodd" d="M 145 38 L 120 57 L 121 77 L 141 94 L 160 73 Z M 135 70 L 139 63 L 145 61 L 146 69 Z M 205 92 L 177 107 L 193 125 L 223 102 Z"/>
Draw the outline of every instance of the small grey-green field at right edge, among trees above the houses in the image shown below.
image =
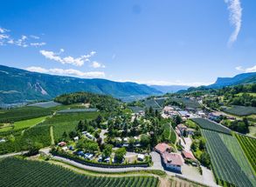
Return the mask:
<path fill-rule="evenodd" d="M 235 116 L 243 117 L 256 114 L 256 107 L 232 105 L 232 107 L 228 107 L 224 111 Z"/>

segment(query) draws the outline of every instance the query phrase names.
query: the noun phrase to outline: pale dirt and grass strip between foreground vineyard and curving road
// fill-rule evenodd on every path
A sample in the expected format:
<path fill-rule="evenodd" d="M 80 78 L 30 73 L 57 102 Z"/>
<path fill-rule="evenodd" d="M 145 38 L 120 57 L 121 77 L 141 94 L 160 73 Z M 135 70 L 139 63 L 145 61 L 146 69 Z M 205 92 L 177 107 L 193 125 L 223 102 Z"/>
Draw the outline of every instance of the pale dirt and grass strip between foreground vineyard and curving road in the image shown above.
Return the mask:
<path fill-rule="evenodd" d="M 144 173 L 131 173 L 131 174 L 109 173 L 109 174 L 106 174 L 106 173 L 96 173 L 96 172 L 93 173 L 92 171 L 80 169 L 78 167 L 74 167 L 70 164 L 65 164 L 65 163 L 62 163 L 59 161 L 50 160 L 48 162 L 51 164 L 56 164 L 56 165 L 62 166 L 69 170 L 73 170 L 76 173 L 80 173 L 80 174 L 87 175 L 87 176 L 93 176 L 93 177 L 141 177 L 141 176 L 157 177 L 159 179 L 160 187 L 169 187 L 170 186 L 170 181 L 169 181 L 168 176 L 160 177 L 160 176 L 150 174 L 150 173 L 145 173 L 145 174 Z"/>

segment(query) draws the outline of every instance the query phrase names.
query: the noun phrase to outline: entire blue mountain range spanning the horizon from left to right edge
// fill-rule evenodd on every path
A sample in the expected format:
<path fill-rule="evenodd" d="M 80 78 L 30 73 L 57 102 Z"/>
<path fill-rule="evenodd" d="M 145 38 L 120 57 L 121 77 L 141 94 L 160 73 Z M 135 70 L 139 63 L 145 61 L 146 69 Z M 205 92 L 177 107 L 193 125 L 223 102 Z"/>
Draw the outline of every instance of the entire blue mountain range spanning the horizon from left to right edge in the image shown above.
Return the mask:
<path fill-rule="evenodd" d="M 173 93 L 178 90 L 218 89 L 240 83 L 256 83 L 256 72 L 243 73 L 235 77 L 218 77 L 208 86 L 197 88 L 183 85 L 152 85 L 119 83 L 99 78 L 54 76 L 0 65 L 0 104 L 16 104 L 30 101 L 50 100 L 64 93 L 87 91 L 106 94 L 124 101 Z M 180 91 L 183 92 L 183 91 Z"/>

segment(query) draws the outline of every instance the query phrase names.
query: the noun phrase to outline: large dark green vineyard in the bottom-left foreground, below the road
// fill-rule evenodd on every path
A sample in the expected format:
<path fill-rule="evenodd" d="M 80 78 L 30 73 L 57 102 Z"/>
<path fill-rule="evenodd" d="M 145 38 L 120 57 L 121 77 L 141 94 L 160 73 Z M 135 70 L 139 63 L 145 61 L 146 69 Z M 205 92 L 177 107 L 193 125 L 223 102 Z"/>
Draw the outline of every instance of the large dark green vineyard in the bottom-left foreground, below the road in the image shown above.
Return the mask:
<path fill-rule="evenodd" d="M 18 170 L 17 170 L 18 168 Z M 60 166 L 38 161 L 6 158 L 0 161 L 0 186 L 145 186 L 155 187 L 156 177 L 89 177 Z"/>

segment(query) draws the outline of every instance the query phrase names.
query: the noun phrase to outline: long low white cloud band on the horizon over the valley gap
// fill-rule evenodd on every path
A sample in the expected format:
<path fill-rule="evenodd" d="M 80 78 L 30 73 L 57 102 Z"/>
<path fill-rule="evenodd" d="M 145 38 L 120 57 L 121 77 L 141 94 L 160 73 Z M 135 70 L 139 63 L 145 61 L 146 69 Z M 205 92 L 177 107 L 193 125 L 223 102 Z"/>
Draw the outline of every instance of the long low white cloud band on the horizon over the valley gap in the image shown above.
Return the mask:
<path fill-rule="evenodd" d="M 183 86 L 201 86 L 201 85 L 209 85 L 211 83 L 202 83 L 202 82 L 194 82 L 194 83 L 187 83 L 182 81 L 159 81 L 159 80 L 149 80 L 149 81 L 138 81 L 138 80 L 117 80 L 118 82 L 134 82 L 134 83 L 142 83 L 147 85 L 163 85 L 163 86 L 170 86 L 170 85 L 183 85 Z"/>

